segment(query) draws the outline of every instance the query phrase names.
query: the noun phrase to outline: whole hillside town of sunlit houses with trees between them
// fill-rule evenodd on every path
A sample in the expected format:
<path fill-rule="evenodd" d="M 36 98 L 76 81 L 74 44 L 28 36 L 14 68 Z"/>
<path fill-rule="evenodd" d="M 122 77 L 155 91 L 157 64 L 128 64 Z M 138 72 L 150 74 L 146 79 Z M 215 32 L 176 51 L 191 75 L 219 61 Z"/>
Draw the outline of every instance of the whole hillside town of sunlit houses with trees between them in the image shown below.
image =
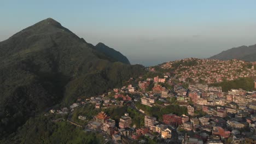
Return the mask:
<path fill-rule="evenodd" d="M 170 73 L 131 77 L 121 88 L 96 97 L 81 97 L 77 103 L 51 109 L 45 116 L 67 115 L 67 119 L 53 122 L 68 121 L 85 131 L 102 133 L 106 143 L 256 143 L 256 81 L 251 91 L 239 88 L 224 92 L 222 87 L 208 85 L 223 77 L 233 80 L 255 76 L 254 68 L 237 72 L 245 67 L 237 60 L 197 62 L 204 65 L 200 67 L 213 62 L 216 65 L 180 66 L 176 70 L 180 77 Z M 166 63 L 162 67 L 172 66 Z M 154 74 L 150 68 L 149 73 Z M 197 81 L 200 75 L 206 83 Z M 195 82 L 185 87 L 187 81 L 183 79 L 189 77 Z M 90 112 L 80 110 L 86 106 L 91 106 Z M 114 110 L 119 117 L 111 114 Z"/>

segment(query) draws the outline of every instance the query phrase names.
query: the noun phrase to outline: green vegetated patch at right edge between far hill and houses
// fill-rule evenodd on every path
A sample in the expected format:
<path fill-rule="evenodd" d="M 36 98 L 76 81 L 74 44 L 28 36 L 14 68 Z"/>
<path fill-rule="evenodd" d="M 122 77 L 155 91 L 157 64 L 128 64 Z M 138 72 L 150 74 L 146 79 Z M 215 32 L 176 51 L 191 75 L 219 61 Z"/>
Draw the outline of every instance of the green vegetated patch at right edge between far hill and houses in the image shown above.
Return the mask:
<path fill-rule="evenodd" d="M 254 79 L 245 77 L 236 79 L 233 81 L 223 81 L 220 83 L 213 83 L 210 86 L 222 87 L 223 92 L 228 92 L 231 88 L 242 88 L 246 91 L 251 91 L 254 89 Z"/>

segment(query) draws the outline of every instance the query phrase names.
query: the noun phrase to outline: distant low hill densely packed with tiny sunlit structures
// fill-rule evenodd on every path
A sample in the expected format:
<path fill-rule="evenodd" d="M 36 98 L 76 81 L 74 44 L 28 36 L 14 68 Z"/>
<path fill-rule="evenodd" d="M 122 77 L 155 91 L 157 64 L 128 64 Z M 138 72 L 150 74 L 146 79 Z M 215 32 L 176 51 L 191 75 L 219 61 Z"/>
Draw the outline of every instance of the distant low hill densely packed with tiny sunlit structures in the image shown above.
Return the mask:
<path fill-rule="evenodd" d="M 195 65 L 183 65 L 182 63 L 189 63 L 196 61 Z M 252 62 L 245 62 L 237 59 L 230 61 L 220 61 L 217 59 L 196 59 L 186 58 L 174 62 L 167 62 L 161 65 L 161 68 L 172 68 L 173 64 L 181 63 L 175 70 L 179 77 L 179 81 L 189 81 L 192 79 L 195 82 L 204 81 L 206 83 L 222 82 L 224 80 L 231 81 L 239 77 L 256 76 L 256 70 Z M 247 65 L 253 65 L 248 68 Z"/>

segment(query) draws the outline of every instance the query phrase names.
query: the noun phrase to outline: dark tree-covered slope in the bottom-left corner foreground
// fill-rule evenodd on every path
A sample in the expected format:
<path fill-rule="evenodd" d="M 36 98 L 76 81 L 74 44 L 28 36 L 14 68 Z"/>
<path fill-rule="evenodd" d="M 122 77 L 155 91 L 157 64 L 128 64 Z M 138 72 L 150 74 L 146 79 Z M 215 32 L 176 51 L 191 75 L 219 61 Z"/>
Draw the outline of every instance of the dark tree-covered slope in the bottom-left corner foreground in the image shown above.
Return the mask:
<path fill-rule="evenodd" d="M 88 133 L 66 121 L 52 122 L 54 116 L 30 118 L 16 134 L 0 143 L 102 143 L 101 134 Z"/>

